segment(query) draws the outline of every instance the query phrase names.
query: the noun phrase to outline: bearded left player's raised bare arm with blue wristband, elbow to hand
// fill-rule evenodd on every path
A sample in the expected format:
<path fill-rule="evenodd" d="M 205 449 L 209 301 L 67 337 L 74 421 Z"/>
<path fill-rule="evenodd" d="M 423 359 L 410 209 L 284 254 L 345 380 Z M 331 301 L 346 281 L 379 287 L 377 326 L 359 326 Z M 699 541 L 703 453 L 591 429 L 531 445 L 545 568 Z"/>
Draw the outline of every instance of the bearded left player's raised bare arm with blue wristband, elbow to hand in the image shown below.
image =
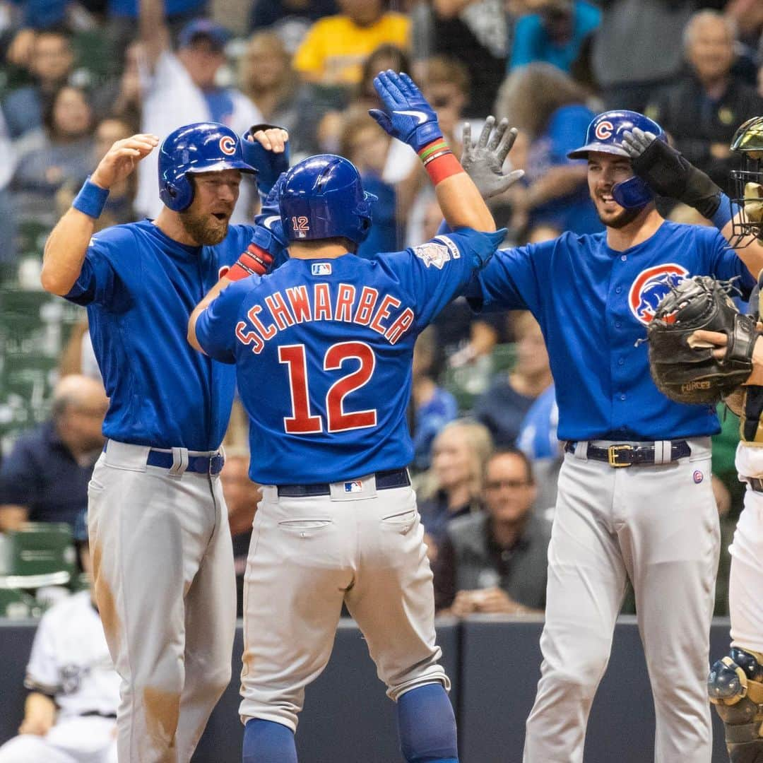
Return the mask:
<path fill-rule="evenodd" d="M 140 159 L 158 145 L 156 135 L 138 134 L 111 146 L 45 242 L 40 275 L 45 291 L 61 296 L 71 291 L 82 270 L 109 188 L 130 175 Z"/>

